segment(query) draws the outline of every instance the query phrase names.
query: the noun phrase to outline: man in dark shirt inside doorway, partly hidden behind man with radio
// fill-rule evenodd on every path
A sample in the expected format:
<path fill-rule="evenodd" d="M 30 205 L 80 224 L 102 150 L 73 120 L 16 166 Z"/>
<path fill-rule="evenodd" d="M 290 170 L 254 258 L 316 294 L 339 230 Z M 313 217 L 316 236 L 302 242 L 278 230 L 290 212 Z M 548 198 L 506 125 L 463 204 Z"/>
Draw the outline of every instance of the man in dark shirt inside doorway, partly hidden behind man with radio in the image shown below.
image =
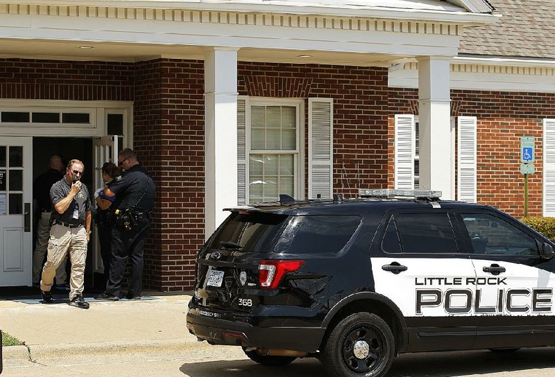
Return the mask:
<path fill-rule="evenodd" d="M 53 184 L 58 182 L 64 174 L 60 172 L 62 168 L 62 158 L 58 155 L 50 157 L 49 170 L 42 173 L 33 182 L 33 199 L 37 201 L 37 210 L 39 211 L 39 221 L 37 223 L 37 243 L 33 252 L 33 286 L 40 286 L 40 274 L 44 265 L 44 256 L 46 255 L 46 247 L 50 238 L 50 213 L 52 204 L 50 201 L 50 189 Z M 65 288 L 65 280 L 67 274 L 65 272 L 65 261 L 58 266 L 56 270 L 56 284 L 60 288 Z"/>

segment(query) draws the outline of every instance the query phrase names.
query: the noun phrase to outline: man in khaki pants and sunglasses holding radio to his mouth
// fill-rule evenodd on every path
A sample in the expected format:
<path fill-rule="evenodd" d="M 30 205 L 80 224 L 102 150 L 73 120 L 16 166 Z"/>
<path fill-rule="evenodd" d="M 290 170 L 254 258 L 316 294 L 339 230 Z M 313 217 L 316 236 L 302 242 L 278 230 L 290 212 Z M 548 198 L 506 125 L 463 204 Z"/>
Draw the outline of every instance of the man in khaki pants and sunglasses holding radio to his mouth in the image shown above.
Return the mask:
<path fill-rule="evenodd" d="M 53 303 L 50 292 L 56 268 L 69 253 L 71 274 L 69 277 L 69 305 L 88 309 L 83 299 L 85 286 L 85 260 L 91 229 L 91 202 L 87 186 L 80 182 L 85 166 L 78 159 L 67 164 L 65 177 L 52 185 L 52 227 L 48 242 L 48 255 L 42 269 L 40 290 L 45 304 Z"/>

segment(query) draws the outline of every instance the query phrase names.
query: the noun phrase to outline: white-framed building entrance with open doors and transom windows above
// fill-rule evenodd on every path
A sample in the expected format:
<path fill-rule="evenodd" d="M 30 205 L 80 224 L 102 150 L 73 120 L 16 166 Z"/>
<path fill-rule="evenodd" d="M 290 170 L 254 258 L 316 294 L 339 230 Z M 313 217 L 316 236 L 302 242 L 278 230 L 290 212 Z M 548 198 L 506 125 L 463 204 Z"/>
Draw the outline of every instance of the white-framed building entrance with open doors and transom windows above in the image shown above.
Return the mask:
<path fill-rule="evenodd" d="M 0 287 L 33 283 L 33 181 L 51 155 L 66 164 L 83 161 L 83 183 L 93 196 L 103 162 L 132 146 L 132 125 L 130 102 L 0 99 Z M 85 288 L 102 281 L 94 279 L 103 266 L 91 228 Z"/>

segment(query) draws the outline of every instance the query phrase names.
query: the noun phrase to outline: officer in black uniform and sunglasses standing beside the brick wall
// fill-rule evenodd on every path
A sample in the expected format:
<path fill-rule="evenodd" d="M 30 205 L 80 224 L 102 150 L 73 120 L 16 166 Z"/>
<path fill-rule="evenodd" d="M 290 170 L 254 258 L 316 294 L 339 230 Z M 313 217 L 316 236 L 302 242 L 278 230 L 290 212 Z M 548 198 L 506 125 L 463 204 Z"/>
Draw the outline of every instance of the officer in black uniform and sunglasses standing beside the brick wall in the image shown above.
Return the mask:
<path fill-rule="evenodd" d="M 115 200 L 112 229 L 112 263 L 106 291 L 94 297 L 100 300 L 119 299 L 121 280 L 127 258 L 131 258 L 131 279 L 126 299 L 140 299 L 144 266 L 144 238 L 151 227 L 151 211 L 154 204 L 155 186 L 153 179 L 139 164 L 137 154 L 130 148 L 119 152 L 119 166 L 125 173 L 117 177 L 104 189 L 107 197 Z"/>

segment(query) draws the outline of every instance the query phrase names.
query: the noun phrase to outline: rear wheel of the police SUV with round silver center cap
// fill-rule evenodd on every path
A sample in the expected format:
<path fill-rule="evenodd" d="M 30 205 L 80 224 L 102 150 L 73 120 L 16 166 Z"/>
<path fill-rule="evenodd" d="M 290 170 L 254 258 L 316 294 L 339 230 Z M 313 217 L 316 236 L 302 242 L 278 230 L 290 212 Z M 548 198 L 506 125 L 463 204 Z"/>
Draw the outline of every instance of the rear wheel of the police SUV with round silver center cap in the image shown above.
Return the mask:
<path fill-rule="evenodd" d="M 372 313 L 342 319 L 323 348 L 322 362 L 330 376 L 382 377 L 395 355 L 391 328 Z"/>

